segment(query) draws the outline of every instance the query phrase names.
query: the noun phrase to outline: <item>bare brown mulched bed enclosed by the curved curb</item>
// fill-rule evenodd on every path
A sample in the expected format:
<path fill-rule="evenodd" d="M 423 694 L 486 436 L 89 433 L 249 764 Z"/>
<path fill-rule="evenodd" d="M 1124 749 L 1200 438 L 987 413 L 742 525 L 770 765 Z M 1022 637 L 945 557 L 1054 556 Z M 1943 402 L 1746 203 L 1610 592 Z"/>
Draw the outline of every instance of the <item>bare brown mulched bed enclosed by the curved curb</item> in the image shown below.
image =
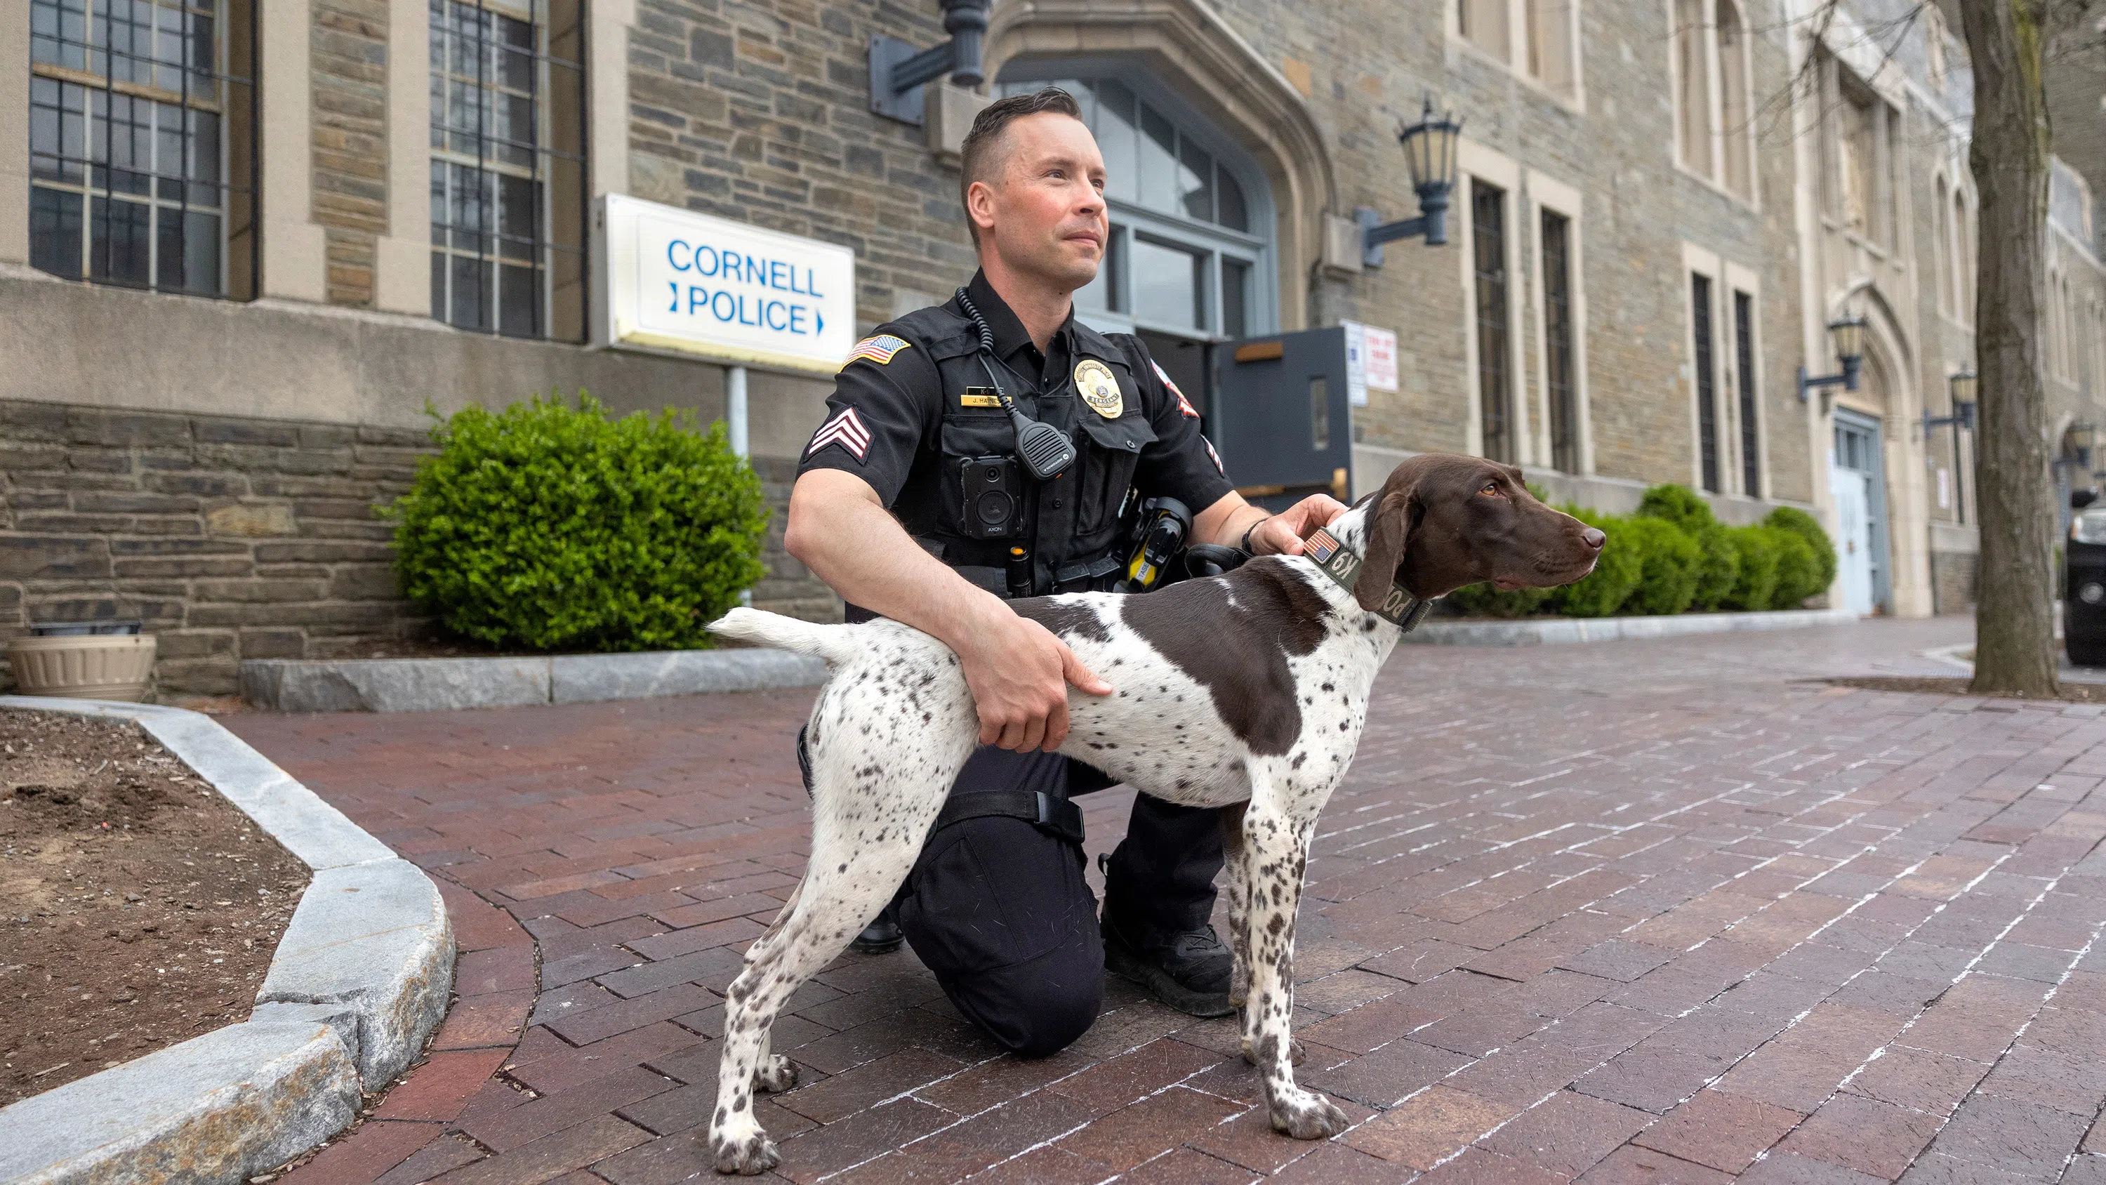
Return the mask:
<path fill-rule="evenodd" d="M 305 886 L 137 724 L 0 711 L 0 1107 L 244 1021 Z"/>

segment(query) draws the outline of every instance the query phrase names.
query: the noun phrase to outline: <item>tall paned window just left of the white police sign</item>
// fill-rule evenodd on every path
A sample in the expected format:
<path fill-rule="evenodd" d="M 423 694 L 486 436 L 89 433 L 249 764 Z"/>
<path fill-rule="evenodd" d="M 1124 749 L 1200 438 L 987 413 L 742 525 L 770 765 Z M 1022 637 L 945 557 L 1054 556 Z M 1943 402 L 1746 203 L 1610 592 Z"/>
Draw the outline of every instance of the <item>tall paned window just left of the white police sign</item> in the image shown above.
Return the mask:
<path fill-rule="evenodd" d="M 432 0 L 432 316 L 585 335 L 577 0 Z"/>

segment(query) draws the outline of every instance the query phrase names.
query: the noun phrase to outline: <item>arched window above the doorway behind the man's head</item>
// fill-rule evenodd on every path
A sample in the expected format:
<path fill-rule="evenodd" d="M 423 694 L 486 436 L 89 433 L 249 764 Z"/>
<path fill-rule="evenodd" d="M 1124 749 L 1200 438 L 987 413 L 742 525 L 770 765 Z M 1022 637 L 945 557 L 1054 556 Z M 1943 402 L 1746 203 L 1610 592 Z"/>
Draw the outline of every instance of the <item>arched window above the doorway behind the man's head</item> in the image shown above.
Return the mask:
<path fill-rule="evenodd" d="M 1148 78 L 1116 63 L 1036 65 L 1036 78 L 1005 72 L 998 93 L 1049 82 L 1068 91 L 1104 152 L 1112 240 L 1097 280 L 1074 295 L 1076 314 L 1099 328 L 1188 339 L 1272 333 L 1278 282 L 1266 175 Z"/>

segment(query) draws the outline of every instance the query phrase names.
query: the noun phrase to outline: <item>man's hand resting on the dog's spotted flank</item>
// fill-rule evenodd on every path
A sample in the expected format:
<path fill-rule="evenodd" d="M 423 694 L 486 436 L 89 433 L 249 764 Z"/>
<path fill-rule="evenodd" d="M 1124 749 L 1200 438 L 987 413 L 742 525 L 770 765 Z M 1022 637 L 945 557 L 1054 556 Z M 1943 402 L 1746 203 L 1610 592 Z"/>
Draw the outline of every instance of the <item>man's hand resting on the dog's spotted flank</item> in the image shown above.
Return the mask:
<path fill-rule="evenodd" d="M 979 707 L 979 743 L 1051 754 L 1068 739 L 1068 684 L 1089 695 L 1112 695 L 1112 684 L 1091 674 L 1045 625 L 1000 602 L 992 608 L 958 650 Z"/>

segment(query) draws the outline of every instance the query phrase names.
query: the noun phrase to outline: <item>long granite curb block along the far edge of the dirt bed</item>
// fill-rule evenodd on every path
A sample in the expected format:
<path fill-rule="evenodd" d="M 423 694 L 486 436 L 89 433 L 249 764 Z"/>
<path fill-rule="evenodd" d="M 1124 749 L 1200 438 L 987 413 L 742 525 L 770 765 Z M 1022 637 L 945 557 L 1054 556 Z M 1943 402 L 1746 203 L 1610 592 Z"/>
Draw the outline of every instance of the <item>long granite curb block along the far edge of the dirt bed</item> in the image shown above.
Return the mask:
<path fill-rule="evenodd" d="M 183 764 L 198 770 L 234 806 L 270 831 L 307 867 L 329 869 L 394 859 L 388 844 L 364 833 L 341 810 L 322 802 L 240 737 L 208 716 L 150 703 L 97 703 L 86 699 L 0 697 L 6 707 L 76 711 L 137 720 Z"/>

